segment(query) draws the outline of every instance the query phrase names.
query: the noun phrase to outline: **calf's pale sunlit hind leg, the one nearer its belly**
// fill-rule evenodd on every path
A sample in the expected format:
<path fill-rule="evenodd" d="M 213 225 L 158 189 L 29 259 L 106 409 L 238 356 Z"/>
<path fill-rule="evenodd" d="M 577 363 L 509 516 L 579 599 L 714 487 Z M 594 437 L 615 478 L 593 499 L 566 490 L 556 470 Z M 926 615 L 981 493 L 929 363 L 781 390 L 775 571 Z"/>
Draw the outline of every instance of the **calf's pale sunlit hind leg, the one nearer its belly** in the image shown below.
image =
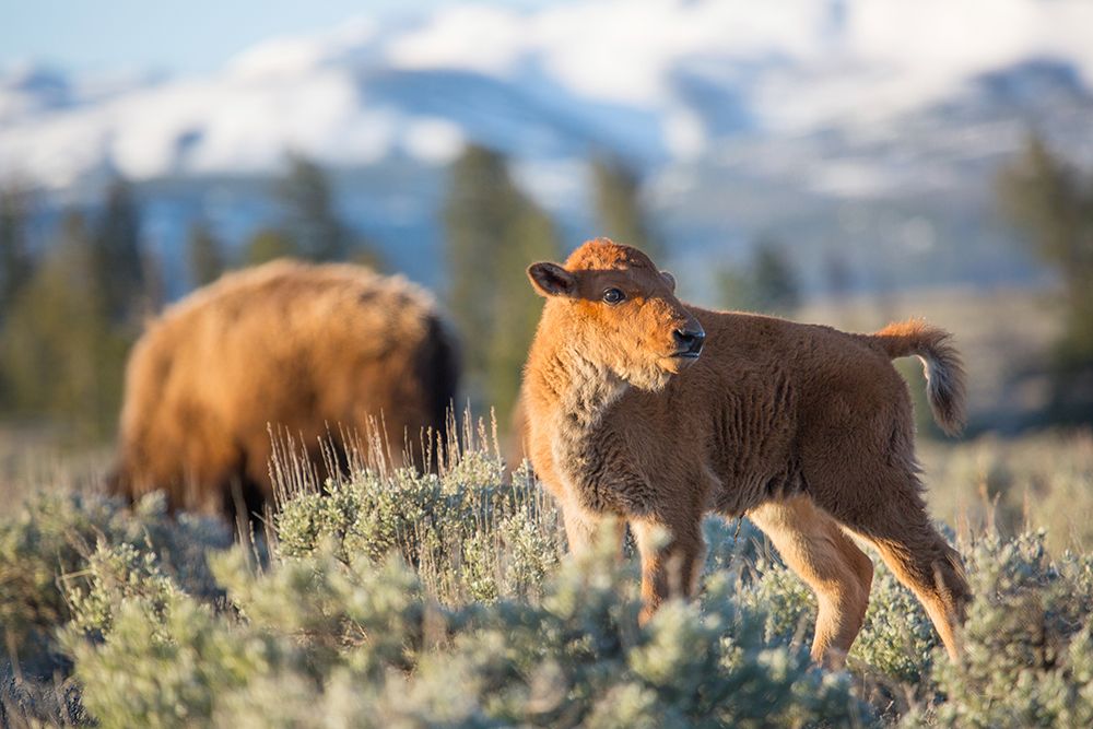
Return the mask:
<path fill-rule="evenodd" d="M 768 502 L 748 518 L 816 596 L 813 660 L 841 668 L 866 616 L 873 563 L 808 496 Z"/>

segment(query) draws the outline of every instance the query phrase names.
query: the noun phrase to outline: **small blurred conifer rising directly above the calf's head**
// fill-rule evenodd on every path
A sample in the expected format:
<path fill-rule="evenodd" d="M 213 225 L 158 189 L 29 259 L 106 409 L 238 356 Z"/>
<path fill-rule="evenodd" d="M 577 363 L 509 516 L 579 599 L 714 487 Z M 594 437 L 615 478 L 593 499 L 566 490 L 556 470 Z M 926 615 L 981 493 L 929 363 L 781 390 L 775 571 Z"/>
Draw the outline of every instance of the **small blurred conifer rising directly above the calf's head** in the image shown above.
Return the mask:
<path fill-rule="evenodd" d="M 600 157 L 592 162 L 592 187 L 596 213 L 603 235 L 644 250 L 660 264 L 663 246 L 649 226 L 642 203 L 640 180 L 633 169 L 619 160 Z"/>

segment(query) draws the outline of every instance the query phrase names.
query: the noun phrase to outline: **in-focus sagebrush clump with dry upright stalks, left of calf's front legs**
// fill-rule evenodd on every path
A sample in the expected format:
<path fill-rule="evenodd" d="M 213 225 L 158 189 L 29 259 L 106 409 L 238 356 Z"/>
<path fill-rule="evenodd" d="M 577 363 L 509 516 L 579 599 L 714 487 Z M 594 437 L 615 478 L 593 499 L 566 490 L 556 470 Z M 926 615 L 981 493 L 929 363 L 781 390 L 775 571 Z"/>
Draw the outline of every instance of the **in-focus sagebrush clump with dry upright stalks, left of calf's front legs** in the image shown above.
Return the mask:
<path fill-rule="evenodd" d="M 503 485 L 498 458 L 465 455 L 443 478 L 398 470 L 328 482 L 282 505 L 280 554 L 314 554 L 321 544 L 350 563 L 396 551 L 447 604 L 537 599 L 562 555 L 557 516 L 531 475 Z"/>

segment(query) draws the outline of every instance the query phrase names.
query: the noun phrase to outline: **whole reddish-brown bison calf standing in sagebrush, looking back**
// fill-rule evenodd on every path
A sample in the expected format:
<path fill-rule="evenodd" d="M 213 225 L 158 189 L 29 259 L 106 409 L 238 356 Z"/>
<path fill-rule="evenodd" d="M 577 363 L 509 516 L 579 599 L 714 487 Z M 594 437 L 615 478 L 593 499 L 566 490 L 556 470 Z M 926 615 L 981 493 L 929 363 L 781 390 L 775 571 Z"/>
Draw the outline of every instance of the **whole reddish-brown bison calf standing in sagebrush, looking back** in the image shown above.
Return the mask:
<path fill-rule="evenodd" d="M 571 549 L 604 517 L 630 524 L 643 618 L 694 588 L 702 519 L 748 515 L 820 603 L 812 655 L 842 663 L 866 614 L 871 543 L 918 596 L 951 655 L 969 599 L 926 513 L 907 387 L 926 364 L 941 426 L 962 426 L 949 334 L 919 322 L 850 334 L 675 298 L 643 252 L 600 239 L 528 269 L 546 297 L 525 373 L 529 451 Z M 667 536 L 667 542 L 665 537 Z"/>

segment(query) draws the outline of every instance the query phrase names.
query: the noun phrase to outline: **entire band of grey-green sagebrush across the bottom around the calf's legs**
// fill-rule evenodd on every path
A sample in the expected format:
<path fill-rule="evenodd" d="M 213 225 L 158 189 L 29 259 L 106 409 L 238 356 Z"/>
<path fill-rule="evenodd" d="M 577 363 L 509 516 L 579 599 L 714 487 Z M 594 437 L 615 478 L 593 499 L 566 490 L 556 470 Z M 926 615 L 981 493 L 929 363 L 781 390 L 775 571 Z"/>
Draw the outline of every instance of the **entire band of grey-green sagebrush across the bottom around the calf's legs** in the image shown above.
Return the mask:
<path fill-rule="evenodd" d="M 810 590 L 749 522 L 708 519 L 700 597 L 639 627 L 636 557 L 562 560 L 550 498 L 526 470 L 501 477 L 475 449 L 439 475 L 297 489 L 268 560 L 161 498 L 27 498 L 0 518 L 20 657 L 0 667 L 0 724 L 1093 722 L 1093 555 L 1053 557 L 1043 532 L 962 546 L 975 601 L 956 663 L 878 563 L 849 672 L 830 673 L 808 657 Z"/>

